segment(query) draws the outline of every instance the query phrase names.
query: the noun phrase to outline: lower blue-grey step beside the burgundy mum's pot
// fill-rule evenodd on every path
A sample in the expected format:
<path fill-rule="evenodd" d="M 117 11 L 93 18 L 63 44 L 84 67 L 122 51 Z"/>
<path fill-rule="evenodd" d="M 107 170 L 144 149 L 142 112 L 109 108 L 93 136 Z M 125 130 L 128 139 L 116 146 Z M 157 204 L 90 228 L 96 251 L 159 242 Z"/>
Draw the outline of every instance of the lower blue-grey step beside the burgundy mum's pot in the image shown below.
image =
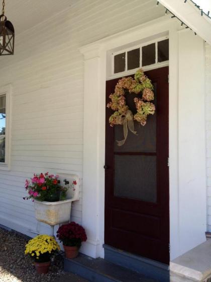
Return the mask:
<path fill-rule="evenodd" d="M 158 282 L 123 266 L 82 254 L 74 259 L 65 258 L 64 270 L 80 275 L 91 282 Z"/>

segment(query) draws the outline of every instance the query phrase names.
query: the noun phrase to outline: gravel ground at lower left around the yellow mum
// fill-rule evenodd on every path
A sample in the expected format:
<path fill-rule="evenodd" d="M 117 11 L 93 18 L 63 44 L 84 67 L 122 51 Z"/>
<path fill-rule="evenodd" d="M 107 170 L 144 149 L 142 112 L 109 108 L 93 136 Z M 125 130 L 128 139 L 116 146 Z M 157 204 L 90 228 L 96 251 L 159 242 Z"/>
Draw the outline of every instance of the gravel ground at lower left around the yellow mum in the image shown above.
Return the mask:
<path fill-rule="evenodd" d="M 0 281 L 47 282 L 60 281 L 67 274 L 62 270 L 62 257 L 57 256 L 48 274 L 37 274 L 33 261 L 24 254 L 28 239 L 0 228 Z M 68 279 L 69 280 L 69 279 Z M 78 277 L 78 281 L 80 278 Z"/>

